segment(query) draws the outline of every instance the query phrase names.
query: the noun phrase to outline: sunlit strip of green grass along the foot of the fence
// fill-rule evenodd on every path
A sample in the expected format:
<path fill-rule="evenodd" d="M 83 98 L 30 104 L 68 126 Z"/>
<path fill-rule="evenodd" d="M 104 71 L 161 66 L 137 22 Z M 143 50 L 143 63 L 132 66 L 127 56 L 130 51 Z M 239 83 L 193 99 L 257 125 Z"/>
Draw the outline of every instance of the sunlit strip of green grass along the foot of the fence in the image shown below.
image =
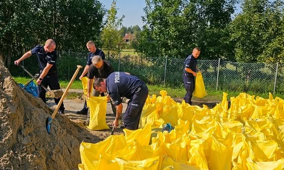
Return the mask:
<path fill-rule="evenodd" d="M 15 81 L 17 83 L 22 83 L 25 84 L 28 80 L 30 80 L 28 77 L 14 77 Z M 68 85 L 68 81 L 60 80 L 60 86 L 62 88 L 66 88 Z M 165 87 L 165 86 L 159 86 L 159 85 L 148 85 L 149 88 L 149 94 L 150 95 L 157 95 L 160 96 L 160 91 L 165 90 L 167 91 L 167 94 L 171 96 L 172 98 L 180 98 L 182 99 L 186 93 L 185 89 L 183 87 L 180 88 L 172 88 L 172 87 Z M 82 84 L 80 80 L 75 80 L 71 86 L 71 89 L 82 89 Z M 221 91 L 221 90 L 212 90 L 212 89 L 207 89 L 207 96 L 205 96 L 203 99 L 198 99 L 198 98 L 193 98 L 195 101 L 200 101 L 200 102 L 220 102 L 222 101 L 223 97 L 223 92 L 228 94 L 227 99 L 230 100 L 230 97 L 236 97 L 242 92 L 229 92 L 229 91 Z M 254 92 L 247 92 L 249 95 L 255 95 L 255 96 L 260 96 L 262 98 L 268 98 L 269 93 L 261 94 L 261 93 L 254 93 Z M 68 99 L 76 99 L 78 96 L 81 94 L 77 93 L 70 93 L 68 94 L 67 98 Z M 274 95 L 274 97 L 280 97 L 284 99 L 284 95 Z"/>

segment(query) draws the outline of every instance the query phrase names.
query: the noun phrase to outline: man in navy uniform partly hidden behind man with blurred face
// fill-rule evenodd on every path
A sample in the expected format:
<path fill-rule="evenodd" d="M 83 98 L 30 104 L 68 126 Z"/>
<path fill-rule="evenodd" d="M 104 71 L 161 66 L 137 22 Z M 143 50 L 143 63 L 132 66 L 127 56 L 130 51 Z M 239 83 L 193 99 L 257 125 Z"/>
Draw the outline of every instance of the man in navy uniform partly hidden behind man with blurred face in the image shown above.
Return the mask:
<path fill-rule="evenodd" d="M 105 60 L 105 53 L 102 50 L 96 48 L 95 43 L 93 41 L 88 41 L 86 46 L 90 53 L 87 56 L 87 65 L 85 66 L 81 76 L 79 77 L 80 80 L 83 76 L 85 76 L 88 73 L 89 68 L 92 64 L 92 58 L 94 56 L 101 56 L 101 58 Z M 102 93 L 101 96 L 104 96 L 104 94 Z M 85 101 L 84 107 L 80 111 L 77 111 L 77 113 L 87 114 L 87 112 L 88 112 L 88 107 L 87 107 L 87 102 Z"/>

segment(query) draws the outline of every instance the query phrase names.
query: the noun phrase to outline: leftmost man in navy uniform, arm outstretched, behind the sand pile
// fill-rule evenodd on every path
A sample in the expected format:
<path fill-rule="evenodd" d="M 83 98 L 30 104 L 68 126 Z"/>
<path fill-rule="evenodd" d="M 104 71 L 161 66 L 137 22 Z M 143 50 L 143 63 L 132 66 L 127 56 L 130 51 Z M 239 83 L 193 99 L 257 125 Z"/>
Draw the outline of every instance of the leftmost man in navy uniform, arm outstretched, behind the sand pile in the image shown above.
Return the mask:
<path fill-rule="evenodd" d="M 37 80 L 37 83 L 46 88 L 49 86 L 51 90 L 58 90 L 60 89 L 60 85 L 56 68 L 57 54 L 56 51 L 54 51 L 55 48 L 56 44 L 54 40 L 47 39 L 44 46 L 36 46 L 31 51 L 26 52 L 19 60 L 16 60 L 14 64 L 18 66 L 21 61 L 31 57 L 33 54 L 36 54 L 40 65 L 40 77 Z M 39 97 L 45 103 L 46 91 L 41 86 L 39 86 Z M 54 102 L 56 104 L 58 104 L 59 101 L 60 98 L 54 98 Z M 64 109 L 64 104 L 62 102 L 59 108 L 59 113 L 64 114 Z"/>

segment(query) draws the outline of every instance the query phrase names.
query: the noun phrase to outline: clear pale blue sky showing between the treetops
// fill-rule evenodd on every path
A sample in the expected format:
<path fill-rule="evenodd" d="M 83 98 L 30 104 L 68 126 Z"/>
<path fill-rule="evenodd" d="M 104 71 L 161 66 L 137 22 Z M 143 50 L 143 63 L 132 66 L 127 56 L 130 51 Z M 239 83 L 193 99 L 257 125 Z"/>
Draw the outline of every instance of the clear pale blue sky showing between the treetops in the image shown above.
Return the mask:
<path fill-rule="evenodd" d="M 110 9 L 113 0 L 99 0 L 105 6 L 106 9 Z M 146 6 L 145 0 L 117 0 L 118 16 L 124 15 L 123 26 L 130 27 L 138 25 L 142 28 L 143 21 L 141 16 L 145 13 L 143 8 Z M 237 4 L 235 13 L 241 11 L 240 4 Z"/>

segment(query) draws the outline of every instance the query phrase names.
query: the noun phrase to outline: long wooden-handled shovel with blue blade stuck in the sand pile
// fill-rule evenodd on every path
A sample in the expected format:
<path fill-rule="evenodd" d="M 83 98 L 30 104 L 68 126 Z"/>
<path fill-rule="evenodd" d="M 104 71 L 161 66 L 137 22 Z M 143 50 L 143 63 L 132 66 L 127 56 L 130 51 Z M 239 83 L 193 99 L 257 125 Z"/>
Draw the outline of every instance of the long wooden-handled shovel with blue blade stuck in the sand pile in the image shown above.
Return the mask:
<path fill-rule="evenodd" d="M 66 87 L 66 90 L 64 91 L 64 93 L 63 93 L 63 95 L 62 95 L 60 101 L 58 102 L 58 104 L 57 104 L 55 110 L 53 111 L 51 117 L 48 117 L 48 118 L 46 119 L 46 121 L 45 121 L 46 130 L 47 130 L 47 133 L 48 133 L 48 134 L 50 134 L 52 119 L 55 118 L 55 115 L 56 115 L 56 113 L 57 113 L 57 111 L 58 111 L 58 109 L 59 109 L 61 103 L 63 102 L 63 99 L 64 99 L 65 96 L 67 95 L 68 90 L 70 89 L 70 87 L 71 87 L 73 81 L 75 80 L 75 78 L 76 78 L 76 76 L 77 76 L 77 74 L 78 74 L 80 68 L 82 68 L 82 66 L 77 66 L 77 69 L 76 69 L 76 71 L 75 71 L 75 73 L 74 73 L 72 79 L 70 80 L 68 86 Z"/>

